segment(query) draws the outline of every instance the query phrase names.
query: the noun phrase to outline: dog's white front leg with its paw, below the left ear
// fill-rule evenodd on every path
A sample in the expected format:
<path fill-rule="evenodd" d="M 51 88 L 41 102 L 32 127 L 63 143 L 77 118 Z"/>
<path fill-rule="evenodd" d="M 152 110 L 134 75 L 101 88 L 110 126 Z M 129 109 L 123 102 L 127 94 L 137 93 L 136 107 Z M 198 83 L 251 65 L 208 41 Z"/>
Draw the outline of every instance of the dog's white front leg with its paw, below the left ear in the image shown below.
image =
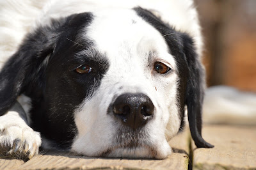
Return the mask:
<path fill-rule="evenodd" d="M 29 127 L 18 102 L 0 116 L 0 158 L 28 160 L 38 153 L 41 143 L 40 133 Z"/>

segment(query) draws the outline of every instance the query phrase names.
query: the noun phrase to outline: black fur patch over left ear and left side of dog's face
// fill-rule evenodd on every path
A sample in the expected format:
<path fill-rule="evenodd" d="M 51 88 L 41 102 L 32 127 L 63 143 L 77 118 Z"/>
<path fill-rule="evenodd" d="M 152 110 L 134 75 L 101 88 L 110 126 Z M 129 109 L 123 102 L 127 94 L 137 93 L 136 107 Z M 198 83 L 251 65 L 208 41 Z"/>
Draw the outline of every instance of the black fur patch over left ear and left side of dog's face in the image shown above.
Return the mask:
<path fill-rule="evenodd" d="M 83 53 L 93 49 L 85 36 L 92 19 L 92 13 L 80 13 L 38 27 L 0 73 L 1 115 L 24 93 L 32 100 L 31 127 L 60 148 L 71 146 L 77 131 L 74 110 L 92 95 L 108 70 L 102 54 Z M 77 73 L 81 65 L 92 67 L 92 72 Z"/>

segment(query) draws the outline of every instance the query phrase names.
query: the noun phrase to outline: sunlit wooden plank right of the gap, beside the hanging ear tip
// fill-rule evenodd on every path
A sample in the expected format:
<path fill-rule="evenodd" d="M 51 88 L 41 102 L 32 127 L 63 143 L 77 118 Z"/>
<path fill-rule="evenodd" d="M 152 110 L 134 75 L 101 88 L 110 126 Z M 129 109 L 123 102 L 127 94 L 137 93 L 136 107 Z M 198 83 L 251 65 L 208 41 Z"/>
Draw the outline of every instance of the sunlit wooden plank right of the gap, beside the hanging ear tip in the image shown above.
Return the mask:
<path fill-rule="evenodd" d="M 194 151 L 194 169 L 256 169 L 256 127 L 207 125 L 203 136 L 215 147 Z"/>

